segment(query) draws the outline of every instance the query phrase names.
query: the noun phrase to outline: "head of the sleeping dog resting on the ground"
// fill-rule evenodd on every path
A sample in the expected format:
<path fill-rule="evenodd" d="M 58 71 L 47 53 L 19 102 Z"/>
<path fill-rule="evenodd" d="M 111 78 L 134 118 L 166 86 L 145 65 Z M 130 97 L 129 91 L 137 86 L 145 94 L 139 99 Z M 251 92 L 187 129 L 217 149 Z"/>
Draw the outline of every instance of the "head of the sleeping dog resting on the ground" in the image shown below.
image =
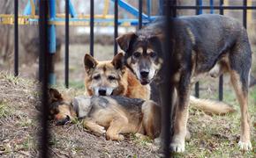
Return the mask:
<path fill-rule="evenodd" d="M 49 89 L 49 117 L 56 125 L 63 126 L 71 121 L 74 113 L 72 105 L 64 101 L 64 97 L 56 89 Z"/>

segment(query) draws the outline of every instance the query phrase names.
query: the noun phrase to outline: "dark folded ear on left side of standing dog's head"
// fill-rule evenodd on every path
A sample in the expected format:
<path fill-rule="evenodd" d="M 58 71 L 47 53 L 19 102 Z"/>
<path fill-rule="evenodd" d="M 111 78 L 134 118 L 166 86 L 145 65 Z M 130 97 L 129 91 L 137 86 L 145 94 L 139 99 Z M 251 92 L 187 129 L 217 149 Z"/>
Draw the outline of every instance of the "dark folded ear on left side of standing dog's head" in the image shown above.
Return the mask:
<path fill-rule="evenodd" d="M 124 50 L 124 52 L 126 52 L 129 49 L 132 43 L 132 40 L 135 39 L 136 37 L 137 35 L 134 32 L 129 32 L 117 37 L 116 41 L 119 47 L 122 50 Z"/>

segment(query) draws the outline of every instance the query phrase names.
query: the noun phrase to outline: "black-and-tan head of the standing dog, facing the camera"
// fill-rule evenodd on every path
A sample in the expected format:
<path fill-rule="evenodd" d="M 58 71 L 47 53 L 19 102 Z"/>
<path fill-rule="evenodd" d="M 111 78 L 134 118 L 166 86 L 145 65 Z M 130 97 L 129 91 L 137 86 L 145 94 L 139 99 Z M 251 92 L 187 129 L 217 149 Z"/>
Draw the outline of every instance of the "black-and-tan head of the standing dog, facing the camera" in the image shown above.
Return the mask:
<path fill-rule="evenodd" d="M 162 67 L 162 45 L 159 35 L 151 33 L 126 33 L 117 38 L 125 52 L 125 64 L 137 75 L 143 85 L 150 83 Z"/>

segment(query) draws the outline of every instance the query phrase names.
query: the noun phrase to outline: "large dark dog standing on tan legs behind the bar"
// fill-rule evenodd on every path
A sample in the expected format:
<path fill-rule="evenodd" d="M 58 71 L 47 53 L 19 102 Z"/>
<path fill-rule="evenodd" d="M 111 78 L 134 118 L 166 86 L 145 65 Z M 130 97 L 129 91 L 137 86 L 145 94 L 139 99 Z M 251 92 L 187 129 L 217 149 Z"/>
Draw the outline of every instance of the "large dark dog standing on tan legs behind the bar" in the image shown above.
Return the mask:
<path fill-rule="evenodd" d="M 172 82 L 177 90 L 177 112 L 170 147 L 184 152 L 188 102 L 193 79 L 199 75 L 230 73 L 241 109 L 242 150 L 252 148 L 248 113 L 248 78 L 252 51 L 245 28 L 237 20 L 221 15 L 200 15 L 173 19 Z M 125 52 L 126 65 L 147 84 L 163 76 L 162 40 L 164 20 L 156 20 L 138 32 L 124 34 L 117 43 Z M 155 77 L 156 76 L 156 77 Z"/>

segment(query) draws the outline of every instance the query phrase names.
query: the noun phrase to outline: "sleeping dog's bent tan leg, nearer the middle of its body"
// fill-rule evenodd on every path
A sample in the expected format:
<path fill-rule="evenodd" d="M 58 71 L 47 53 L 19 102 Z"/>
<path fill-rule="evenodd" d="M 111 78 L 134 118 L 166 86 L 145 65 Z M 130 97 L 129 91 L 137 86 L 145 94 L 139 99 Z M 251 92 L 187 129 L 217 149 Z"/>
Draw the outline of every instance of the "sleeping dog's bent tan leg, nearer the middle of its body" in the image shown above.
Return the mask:
<path fill-rule="evenodd" d="M 128 126 L 128 119 L 121 116 L 111 121 L 107 130 L 107 140 L 124 140 L 124 135 L 120 134 L 122 129 Z"/>

